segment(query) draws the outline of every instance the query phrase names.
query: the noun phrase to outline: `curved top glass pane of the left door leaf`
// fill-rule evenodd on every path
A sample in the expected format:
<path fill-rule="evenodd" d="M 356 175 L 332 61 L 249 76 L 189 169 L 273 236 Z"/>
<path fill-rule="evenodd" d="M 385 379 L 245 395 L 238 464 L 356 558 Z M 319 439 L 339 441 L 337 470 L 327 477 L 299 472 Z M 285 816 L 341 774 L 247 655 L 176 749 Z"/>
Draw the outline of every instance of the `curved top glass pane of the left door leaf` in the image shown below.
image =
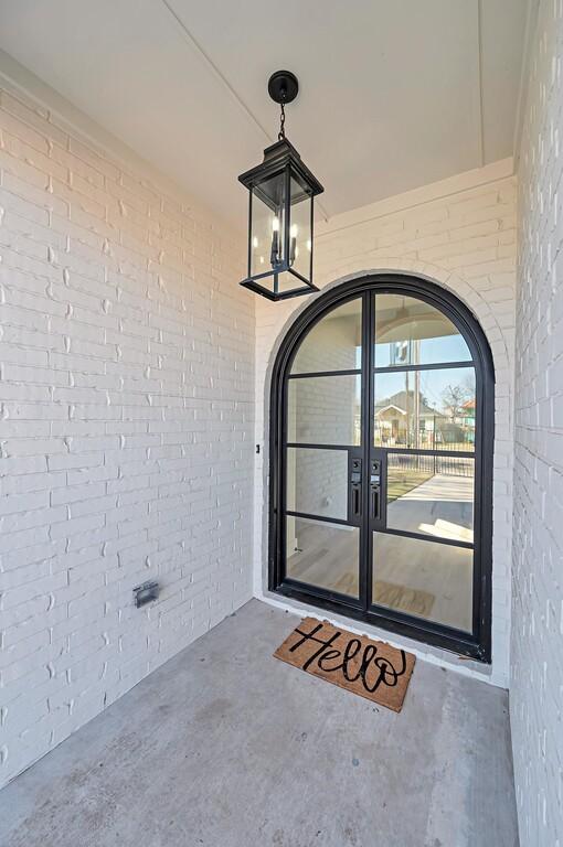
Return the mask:
<path fill-rule="evenodd" d="M 362 366 L 361 298 L 338 305 L 321 318 L 301 341 L 291 374 L 353 371 Z"/>

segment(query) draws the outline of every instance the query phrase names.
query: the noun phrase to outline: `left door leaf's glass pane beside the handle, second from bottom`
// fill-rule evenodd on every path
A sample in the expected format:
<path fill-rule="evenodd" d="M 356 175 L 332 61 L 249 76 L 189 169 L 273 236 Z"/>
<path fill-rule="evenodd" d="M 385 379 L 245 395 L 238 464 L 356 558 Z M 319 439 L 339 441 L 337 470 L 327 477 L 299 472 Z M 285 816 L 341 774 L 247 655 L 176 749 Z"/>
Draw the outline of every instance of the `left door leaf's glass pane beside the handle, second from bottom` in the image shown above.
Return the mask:
<path fill-rule="evenodd" d="M 289 512 L 348 518 L 348 451 L 287 449 Z"/>

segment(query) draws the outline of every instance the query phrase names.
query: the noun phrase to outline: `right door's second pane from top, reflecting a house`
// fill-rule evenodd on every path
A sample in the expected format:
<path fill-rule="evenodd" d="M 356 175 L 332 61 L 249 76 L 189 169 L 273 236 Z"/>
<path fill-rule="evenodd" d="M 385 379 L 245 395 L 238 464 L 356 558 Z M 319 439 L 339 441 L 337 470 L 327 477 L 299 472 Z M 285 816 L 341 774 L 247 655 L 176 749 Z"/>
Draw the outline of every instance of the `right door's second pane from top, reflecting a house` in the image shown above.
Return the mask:
<path fill-rule="evenodd" d="M 475 371 L 452 367 L 374 375 L 375 447 L 475 449 Z"/>

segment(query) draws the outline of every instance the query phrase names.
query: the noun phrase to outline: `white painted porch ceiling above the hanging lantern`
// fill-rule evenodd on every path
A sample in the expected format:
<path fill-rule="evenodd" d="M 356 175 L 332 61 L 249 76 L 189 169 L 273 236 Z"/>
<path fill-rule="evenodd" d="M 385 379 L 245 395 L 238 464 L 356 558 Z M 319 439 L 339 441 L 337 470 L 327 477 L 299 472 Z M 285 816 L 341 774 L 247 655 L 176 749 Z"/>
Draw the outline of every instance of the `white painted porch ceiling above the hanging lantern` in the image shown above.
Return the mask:
<path fill-rule="evenodd" d="M 0 0 L 0 47 L 232 222 L 287 136 L 331 216 L 513 152 L 528 0 Z"/>

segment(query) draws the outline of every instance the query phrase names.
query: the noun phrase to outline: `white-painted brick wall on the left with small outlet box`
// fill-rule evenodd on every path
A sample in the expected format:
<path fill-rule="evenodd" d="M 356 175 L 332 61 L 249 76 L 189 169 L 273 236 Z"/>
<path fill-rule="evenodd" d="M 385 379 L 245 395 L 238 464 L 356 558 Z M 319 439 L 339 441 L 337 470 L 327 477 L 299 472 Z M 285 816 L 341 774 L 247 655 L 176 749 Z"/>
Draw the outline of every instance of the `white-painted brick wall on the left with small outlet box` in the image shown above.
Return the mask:
<path fill-rule="evenodd" d="M 0 131 L 3 784 L 251 597 L 255 326 L 226 227 L 13 89 Z"/>

